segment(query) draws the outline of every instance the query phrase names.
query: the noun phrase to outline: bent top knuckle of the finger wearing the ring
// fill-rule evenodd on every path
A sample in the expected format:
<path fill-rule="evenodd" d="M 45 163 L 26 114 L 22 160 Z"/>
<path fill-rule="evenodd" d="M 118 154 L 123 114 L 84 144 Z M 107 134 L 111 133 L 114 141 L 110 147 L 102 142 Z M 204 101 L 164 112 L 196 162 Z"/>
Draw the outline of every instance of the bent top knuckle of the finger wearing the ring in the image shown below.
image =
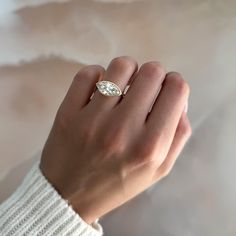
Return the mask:
<path fill-rule="evenodd" d="M 136 67 L 136 64 L 136 61 L 129 56 L 116 57 L 111 61 L 111 65 L 116 67 L 118 70 L 133 70 L 134 67 Z"/>

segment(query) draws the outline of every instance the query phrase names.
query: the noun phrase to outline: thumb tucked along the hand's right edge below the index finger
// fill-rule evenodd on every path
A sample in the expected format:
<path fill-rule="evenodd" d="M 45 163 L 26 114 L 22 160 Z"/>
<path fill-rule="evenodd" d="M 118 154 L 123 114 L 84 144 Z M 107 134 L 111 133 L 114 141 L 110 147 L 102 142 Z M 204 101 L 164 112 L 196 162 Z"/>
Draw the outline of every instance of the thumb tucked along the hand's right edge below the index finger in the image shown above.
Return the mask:
<path fill-rule="evenodd" d="M 157 169 L 153 178 L 153 183 L 162 179 L 163 177 L 167 176 L 170 173 L 171 169 L 175 164 L 176 159 L 178 158 L 179 154 L 184 148 L 184 145 L 186 144 L 187 140 L 191 136 L 191 133 L 192 129 L 190 126 L 189 119 L 187 117 L 187 114 L 183 112 L 179 120 L 179 124 L 176 129 L 170 150 L 164 162 Z"/>

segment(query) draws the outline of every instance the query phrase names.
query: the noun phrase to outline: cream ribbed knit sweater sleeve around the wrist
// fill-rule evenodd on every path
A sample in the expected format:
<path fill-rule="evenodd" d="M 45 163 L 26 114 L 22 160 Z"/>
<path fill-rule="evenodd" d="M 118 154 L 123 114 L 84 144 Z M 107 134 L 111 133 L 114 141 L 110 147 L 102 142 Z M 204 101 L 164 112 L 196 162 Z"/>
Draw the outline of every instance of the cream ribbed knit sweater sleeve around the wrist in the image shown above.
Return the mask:
<path fill-rule="evenodd" d="M 47 181 L 37 161 L 17 190 L 0 205 L 1 236 L 101 236 L 102 226 L 87 224 Z"/>

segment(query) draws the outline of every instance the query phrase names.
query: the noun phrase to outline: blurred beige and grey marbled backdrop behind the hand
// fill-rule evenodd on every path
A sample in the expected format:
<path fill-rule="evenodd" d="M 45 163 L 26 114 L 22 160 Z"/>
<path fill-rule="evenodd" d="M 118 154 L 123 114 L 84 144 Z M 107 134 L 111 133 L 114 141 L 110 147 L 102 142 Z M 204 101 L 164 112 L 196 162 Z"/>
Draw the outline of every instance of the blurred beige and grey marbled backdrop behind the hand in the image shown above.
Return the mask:
<path fill-rule="evenodd" d="M 102 219 L 112 236 L 236 235 L 234 0 L 0 0 L 0 201 L 47 138 L 83 64 L 159 60 L 191 86 L 172 173 Z"/>

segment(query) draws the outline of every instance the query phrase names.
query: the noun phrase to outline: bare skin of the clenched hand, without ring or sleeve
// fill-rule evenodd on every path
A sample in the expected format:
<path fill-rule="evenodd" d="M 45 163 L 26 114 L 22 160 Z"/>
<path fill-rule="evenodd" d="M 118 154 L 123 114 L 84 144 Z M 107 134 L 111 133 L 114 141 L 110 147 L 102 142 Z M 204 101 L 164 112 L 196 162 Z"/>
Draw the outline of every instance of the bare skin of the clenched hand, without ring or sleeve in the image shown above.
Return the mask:
<path fill-rule="evenodd" d="M 107 97 L 95 89 L 99 80 L 130 87 Z M 192 132 L 188 96 L 181 75 L 155 61 L 138 68 L 123 56 L 106 70 L 83 67 L 57 111 L 43 174 L 91 224 L 168 175 Z"/>

